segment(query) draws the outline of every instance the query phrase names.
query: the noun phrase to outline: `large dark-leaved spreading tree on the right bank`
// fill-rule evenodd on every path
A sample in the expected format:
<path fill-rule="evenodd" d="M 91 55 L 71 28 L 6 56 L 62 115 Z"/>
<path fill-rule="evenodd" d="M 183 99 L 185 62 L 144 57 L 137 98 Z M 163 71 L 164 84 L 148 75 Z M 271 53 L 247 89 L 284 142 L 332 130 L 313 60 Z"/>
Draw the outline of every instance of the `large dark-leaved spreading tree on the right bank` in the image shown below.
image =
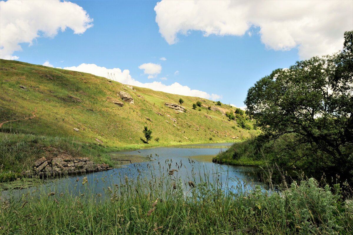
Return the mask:
<path fill-rule="evenodd" d="M 267 140 L 291 135 L 286 149 L 305 146 L 301 157 L 323 153 L 331 157 L 328 165 L 347 172 L 353 167 L 353 31 L 344 37 L 340 52 L 299 61 L 260 79 L 245 104 Z"/>

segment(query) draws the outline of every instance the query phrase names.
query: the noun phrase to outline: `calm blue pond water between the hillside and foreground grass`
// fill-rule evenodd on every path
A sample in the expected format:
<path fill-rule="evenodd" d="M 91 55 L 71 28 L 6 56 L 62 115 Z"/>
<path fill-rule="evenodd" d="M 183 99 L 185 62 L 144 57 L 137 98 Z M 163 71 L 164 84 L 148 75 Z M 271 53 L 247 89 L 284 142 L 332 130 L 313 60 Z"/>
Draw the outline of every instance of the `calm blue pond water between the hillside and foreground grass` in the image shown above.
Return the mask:
<path fill-rule="evenodd" d="M 136 181 L 141 177 L 146 180 L 154 177 L 169 177 L 174 181 L 181 179 L 185 185 L 189 181 L 195 184 L 209 181 L 213 184 L 219 183 L 221 187 L 232 191 L 246 190 L 254 185 L 260 185 L 264 190 L 265 185 L 259 180 L 262 172 L 260 168 L 220 165 L 212 162 L 215 155 L 220 151 L 226 151 L 231 145 L 232 143 L 194 144 L 111 153 L 112 159 L 125 164 L 119 164 L 120 167 L 108 171 L 69 175 L 54 180 L 47 179 L 41 187 L 49 190 L 55 188 L 56 191 L 68 187 L 70 191 L 77 191 L 76 188 L 82 186 L 83 178 L 87 177 L 88 185 L 91 185 L 90 192 L 104 193 L 104 189 L 108 186 L 122 184 L 126 178 Z M 121 157 L 124 157 L 125 161 L 119 161 Z M 135 163 L 130 163 L 130 159 Z M 136 162 L 136 159 L 143 159 L 143 161 Z M 169 173 L 173 169 L 176 171 Z M 28 192 L 28 189 L 12 190 L 12 193 L 18 196 L 24 192 Z M 6 196 L 8 192 L 3 191 L 1 194 Z"/>

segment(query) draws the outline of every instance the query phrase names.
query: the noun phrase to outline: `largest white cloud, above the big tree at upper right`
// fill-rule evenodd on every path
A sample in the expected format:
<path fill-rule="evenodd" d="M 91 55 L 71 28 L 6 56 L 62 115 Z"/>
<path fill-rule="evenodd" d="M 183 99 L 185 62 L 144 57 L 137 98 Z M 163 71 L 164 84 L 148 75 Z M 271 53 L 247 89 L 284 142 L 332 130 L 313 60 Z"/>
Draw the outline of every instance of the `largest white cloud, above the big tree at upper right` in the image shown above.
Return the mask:
<path fill-rule="evenodd" d="M 199 30 L 207 37 L 242 36 L 258 27 L 267 48 L 297 48 L 301 58 L 342 48 L 343 32 L 353 29 L 353 1 L 161 1 L 154 10 L 169 44 L 177 34 Z"/>

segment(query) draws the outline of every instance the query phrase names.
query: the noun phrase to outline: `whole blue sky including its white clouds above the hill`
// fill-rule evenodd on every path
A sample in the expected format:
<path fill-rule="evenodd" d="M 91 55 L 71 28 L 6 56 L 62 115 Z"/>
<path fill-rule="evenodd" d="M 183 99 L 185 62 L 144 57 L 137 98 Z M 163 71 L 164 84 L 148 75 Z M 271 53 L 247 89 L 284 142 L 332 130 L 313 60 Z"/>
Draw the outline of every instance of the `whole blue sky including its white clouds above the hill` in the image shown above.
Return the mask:
<path fill-rule="evenodd" d="M 0 1 L 0 57 L 244 107 L 277 68 L 342 49 L 349 1 Z"/>

